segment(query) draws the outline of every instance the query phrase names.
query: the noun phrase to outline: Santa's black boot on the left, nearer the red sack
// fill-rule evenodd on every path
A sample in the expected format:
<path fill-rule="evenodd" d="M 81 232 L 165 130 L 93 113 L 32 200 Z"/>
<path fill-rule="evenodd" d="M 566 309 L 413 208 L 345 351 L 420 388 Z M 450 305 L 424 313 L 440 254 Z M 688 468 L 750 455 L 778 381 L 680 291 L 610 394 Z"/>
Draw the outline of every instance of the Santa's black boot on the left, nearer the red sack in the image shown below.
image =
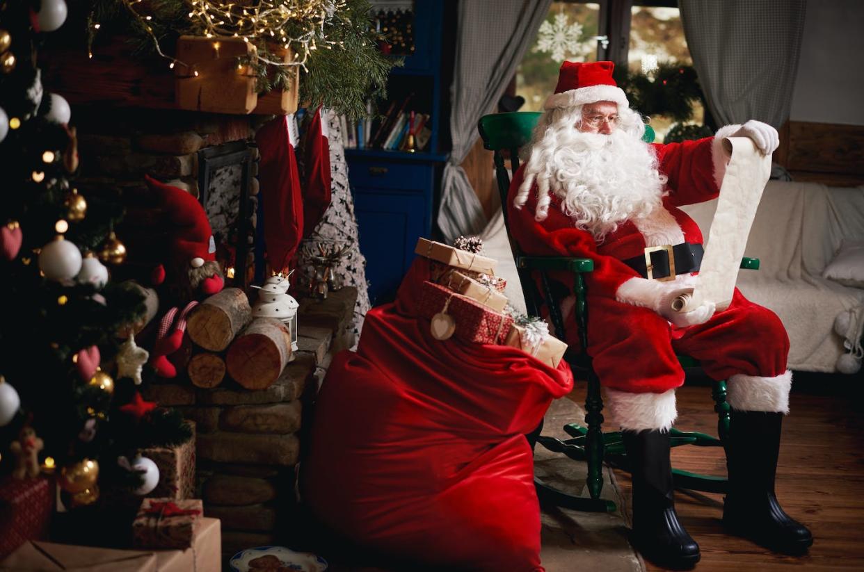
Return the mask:
<path fill-rule="evenodd" d="M 632 544 L 646 560 L 670 569 L 699 562 L 699 545 L 675 512 L 668 431 L 621 431 L 633 481 Z"/>

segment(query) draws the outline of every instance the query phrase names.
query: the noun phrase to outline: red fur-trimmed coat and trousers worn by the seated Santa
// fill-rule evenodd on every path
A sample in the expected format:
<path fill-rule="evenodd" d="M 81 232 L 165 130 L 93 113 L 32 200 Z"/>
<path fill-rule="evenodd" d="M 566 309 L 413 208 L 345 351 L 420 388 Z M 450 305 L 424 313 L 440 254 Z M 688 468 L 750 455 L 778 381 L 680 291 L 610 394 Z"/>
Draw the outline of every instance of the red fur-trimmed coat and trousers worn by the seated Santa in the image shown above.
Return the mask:
<path fill-rule="evenodd" d="M 564 255 L 590 258 L 587 273 L 588 354 L 607 388 L 613 418 L 632 430 L 668 428 L 676 416 L 674 388 L 684 374 L 677 353 L 695 357 L 714 379 L 744 374 L 774 379 L 785 375 L 789 341 L 783 324 L 772 311 L 747 301 L 737 290 L 729 307 L 704 324 L 677 328 L 654 310 L 661 293 L 670 286 L 687 286 L 689 274 L 675 283 L 645 280 L 622 260 L 644 255 L 646 246 L 680 242 L 702 243 L 696 223 L 678 207 L 717 197 L 725 156 L 717 139 L 654 145 L 660 172 L 668 177 L 662 209 L 648 220 L 619 224 L 598 246 L 594 237 L 573 225 L 552 198 L 549 216 L 537 222 L 536 193 L 524 208 L 513 207 L 522 184 L 523 170 L 513 178 L 507 199 L 512 236 L 528 255 Z M 552 278 L 572 289 L 573 275 Z M 579 343 L 573 299 L 562 302 L 567 342 Z M 612 390 L 612 391 L 610 391 Z"/>

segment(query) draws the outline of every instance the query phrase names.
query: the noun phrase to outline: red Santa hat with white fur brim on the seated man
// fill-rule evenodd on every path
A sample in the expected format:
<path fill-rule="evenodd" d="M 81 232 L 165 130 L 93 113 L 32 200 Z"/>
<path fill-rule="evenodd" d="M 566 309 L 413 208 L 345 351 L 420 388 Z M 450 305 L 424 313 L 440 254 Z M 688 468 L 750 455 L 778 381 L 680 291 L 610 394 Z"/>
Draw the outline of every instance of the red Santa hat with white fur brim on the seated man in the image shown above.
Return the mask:
<path fill-rule="evenodd" d="M 568 108 L 576 105 L 611 101 L 629 107 L 624 90 L 612 78 L 615 64 L 611 61 L 581 63 L 565 61 L 558 72 L 555 93 L 547 97 L 543 108 Z"/>

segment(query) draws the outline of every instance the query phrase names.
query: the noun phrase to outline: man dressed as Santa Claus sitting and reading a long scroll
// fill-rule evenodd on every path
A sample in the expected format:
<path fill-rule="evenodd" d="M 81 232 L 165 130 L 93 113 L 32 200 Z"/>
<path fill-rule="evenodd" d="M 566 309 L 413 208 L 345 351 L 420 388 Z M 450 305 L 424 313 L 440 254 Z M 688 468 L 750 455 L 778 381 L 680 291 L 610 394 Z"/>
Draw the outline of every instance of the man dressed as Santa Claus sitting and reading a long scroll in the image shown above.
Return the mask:
<path fill-rule="evenodd" d="M 729 159 L 724 137 L 749 137 L 771 154 L 777 130 L 748 121 L 713 138 L 648 145 L 642 117 L 629 109 L 612 71 L 612 62 L 562 64 L 507 208 L 524 253 L 594 260 L 586 276 L 588 354 L 632 465 L 634 544 L 661 565 L 699 560 L 672 495 L 669 430 L 684 380 L 680 353 L 727 380 L 733 410 L 724 525 L 774 550 L 807 550 L 810 531 L 774 495 L 791 387 L 783 324 L 737 290 L 723 311 L 708 301 L 686 312 L 670 305 L 693 286 L 702 260 L 702 234 L 679 207 L 717 197 Z M 556 280 L 573 292 L 572 276 Z M 571 344 L 578 336 L 573 307 L 572 297 L 562 302 Z"/>

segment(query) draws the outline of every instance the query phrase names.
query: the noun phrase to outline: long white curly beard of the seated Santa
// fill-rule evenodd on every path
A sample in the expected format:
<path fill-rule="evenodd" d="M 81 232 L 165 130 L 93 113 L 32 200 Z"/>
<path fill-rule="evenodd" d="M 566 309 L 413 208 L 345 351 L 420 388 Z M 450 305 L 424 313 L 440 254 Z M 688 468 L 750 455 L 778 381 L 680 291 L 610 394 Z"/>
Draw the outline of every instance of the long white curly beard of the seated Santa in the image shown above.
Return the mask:
<path fill-rule="evenodd" d="M 527 188 L 520 191 L 537 183 L 538 221 L 546 218 L 548 195 L 554 193 L 575 226 L 602 242 L 620 223 L 660 206 L 665 182 L 653 149 L 638 134 L 582 133 L 566 114 L 536 134 L 525 167 Z"/>

